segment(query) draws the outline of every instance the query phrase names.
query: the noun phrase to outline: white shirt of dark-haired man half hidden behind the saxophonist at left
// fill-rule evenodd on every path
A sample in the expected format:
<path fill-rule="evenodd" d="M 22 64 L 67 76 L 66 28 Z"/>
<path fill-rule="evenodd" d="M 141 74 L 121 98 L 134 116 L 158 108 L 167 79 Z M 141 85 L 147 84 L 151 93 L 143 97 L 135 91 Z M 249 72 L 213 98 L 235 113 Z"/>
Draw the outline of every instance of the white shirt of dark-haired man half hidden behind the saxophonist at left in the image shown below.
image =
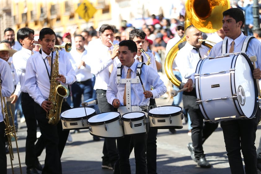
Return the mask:
<path fill-rule="evenodd" d="M 13 55 L 13 64 L 16 69 L 16 73 L 19 77 L 20 85 L 21 85 L 21 91 L 27 92 L 24 86 L 24 80 L 25 80 L 25 68 L 26 68 L 26 62 L 29 59 L 32 54 L 31 50 L 28 50 L 24 47 L 20 51 L 17 51 Z"/>

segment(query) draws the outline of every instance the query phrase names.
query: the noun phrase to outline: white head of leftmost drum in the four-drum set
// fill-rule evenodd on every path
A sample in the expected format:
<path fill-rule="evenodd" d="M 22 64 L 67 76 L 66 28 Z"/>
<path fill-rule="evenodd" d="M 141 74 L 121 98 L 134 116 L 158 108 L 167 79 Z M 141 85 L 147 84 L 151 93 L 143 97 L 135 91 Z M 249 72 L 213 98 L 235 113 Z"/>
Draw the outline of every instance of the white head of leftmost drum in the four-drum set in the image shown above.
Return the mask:
<path fill-rule="evenodd" d="M 91 107 L 77 107 L 68 109 L 60 114 L 62 120 L 87 119 L 96 114 L 96 110 Z"/>

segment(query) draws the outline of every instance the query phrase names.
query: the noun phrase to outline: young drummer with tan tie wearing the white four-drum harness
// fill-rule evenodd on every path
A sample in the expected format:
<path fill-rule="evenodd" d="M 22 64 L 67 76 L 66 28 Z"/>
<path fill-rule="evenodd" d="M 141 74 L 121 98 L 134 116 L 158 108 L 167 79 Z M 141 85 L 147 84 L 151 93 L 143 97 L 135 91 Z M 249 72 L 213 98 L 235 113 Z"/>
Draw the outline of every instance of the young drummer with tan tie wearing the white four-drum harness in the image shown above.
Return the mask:
<path fill-rule="evenodd" d="M 119 43 L 119 59 L 121 61 L 122 78 L 127 77 L 127 71 L 131 69 L 131 78 L 137 78 L 137 65 L 139 64 L 135 61 L 134 57 L 137 54 L 136 43 L 132 40 L 124 40 Z M 119 106 L 124 106 L 124 91 L 125 83 L 117 83 L 117 69 L 115 67 L 109 79 L 108 89 L 106 97 L 108 103 L 113 105 L 114 108 L 119 108 Z M 143 91 L 141 83 L 131 83 L 131 106 L 140 106 L 141 108 L 146 108 L 149 106 L 149 100 L 151 98 L 159 98 L 167 90 L 163 81 L 160 79 L 159 74 L 156 69 L 151 66 L 143 65 L 142 73 L 140 75 L 143 85 L 146 91 Z M 151 90 L 151 86 L 154 87 Z M 126 92 L 127 94 L 127 92 Z M 124 113 L 121 113 L 124 114 Z M 133 139 L 135 161 L 136 161 L 136 174 L 146 174 L 147 173 L 147 162 L 146 162 L 146 149 L 147 149 L 147 134 L 135 134 L 132 136 L 124 136 L 123 138 L 117 139 L 117 148 L 119 153 L 119 168 L 120 173 L 131 174 L 131 167 L 129 163 L 130 157 L 130 143 Z"/>

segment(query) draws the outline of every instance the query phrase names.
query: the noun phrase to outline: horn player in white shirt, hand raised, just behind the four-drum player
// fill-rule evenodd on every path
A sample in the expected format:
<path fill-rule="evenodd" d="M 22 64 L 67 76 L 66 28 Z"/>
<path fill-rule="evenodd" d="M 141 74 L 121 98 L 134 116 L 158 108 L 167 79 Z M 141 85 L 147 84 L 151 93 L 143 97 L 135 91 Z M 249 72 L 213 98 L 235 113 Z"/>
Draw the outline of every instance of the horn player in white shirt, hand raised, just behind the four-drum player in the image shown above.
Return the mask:
<path fill-rule="evenodd" d="M 110 66 L 117 66 L 119 46 L 111 44 L 114 37 L 114 27 L 104 24 L 99 29 L 99 39 L 89 42 L 87 57 L 90 62 L 91 73 L 95 75 L 95 85 L 98 107 L 100 112 L 114 111 L 113 106 L 106 100 L 107 85 L 109 84 Z M 116 139 L 105 138 L 103 146 L 102 168 L 113 169 L 114 163 L 118 159 Z"/>

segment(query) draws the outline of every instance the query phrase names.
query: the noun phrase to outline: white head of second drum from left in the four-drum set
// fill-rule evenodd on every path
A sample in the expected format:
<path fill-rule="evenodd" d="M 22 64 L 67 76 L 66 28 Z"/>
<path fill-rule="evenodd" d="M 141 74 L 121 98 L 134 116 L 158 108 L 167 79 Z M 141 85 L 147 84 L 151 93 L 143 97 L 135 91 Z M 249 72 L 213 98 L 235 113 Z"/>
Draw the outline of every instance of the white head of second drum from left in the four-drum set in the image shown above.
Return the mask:
<path fill-rule="evenodd" d="M 104 124 L 111 123 L 120 117 L 119 112 L 104 112 L 97 115 L 92 116 L 88 119 L 90 125 L 97 125 L 97 124 Z"/>

